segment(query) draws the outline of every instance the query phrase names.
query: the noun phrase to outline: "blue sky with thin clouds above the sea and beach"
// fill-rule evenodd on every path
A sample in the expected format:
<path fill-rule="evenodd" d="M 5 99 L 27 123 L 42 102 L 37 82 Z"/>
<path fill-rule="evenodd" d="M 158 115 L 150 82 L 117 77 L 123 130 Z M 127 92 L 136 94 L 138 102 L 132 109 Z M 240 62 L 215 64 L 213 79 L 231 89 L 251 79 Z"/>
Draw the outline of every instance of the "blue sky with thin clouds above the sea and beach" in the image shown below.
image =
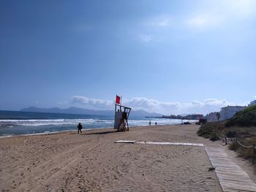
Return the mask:
<path fill-rule="evenodd" d="M 256 99 L 256 1 L 0 1 L 0 110 L 163 114 Z"/>

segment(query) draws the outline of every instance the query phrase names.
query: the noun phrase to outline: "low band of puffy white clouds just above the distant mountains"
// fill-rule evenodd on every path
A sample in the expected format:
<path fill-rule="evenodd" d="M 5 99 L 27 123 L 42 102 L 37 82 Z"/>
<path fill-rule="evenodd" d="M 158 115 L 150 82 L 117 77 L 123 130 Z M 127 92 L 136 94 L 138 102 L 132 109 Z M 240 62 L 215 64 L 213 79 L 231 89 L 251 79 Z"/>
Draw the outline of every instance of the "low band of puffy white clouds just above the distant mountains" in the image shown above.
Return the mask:
<path fill-rule="evenodd" d="M 114 101 L 104 99 L 89 99 L 86 96 L 72 96 L 72 103 L 80 104 L 80 107 L 89 107 L 94 110 L 111 110 Z M 155 99 L 135 97 L 132 99 L 123 99 L 122 104 L 132 107 L 132 110 L 146 110 L 148 112 L 159 112 L 164 115 L 178 115 L 184 113 L 202 113 L 219 111 L 221 107 L 235 105 L 225 99 L 206 99 L 204 101 L 191 102 L 162 102 Z"/>

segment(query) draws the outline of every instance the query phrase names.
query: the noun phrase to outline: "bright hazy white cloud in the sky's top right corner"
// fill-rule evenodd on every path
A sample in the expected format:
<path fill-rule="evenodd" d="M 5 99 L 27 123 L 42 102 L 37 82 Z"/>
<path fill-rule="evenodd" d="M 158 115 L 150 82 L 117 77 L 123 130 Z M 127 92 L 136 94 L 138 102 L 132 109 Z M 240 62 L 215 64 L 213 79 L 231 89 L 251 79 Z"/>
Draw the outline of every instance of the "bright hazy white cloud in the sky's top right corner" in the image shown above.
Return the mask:
<path fill-rule="evenodd" d="M 253 18 L 256 15 L 255 0 L 212 0 L 195 5 L 185 23 L 189 28 L 214 28 L 224 23 Z"/>

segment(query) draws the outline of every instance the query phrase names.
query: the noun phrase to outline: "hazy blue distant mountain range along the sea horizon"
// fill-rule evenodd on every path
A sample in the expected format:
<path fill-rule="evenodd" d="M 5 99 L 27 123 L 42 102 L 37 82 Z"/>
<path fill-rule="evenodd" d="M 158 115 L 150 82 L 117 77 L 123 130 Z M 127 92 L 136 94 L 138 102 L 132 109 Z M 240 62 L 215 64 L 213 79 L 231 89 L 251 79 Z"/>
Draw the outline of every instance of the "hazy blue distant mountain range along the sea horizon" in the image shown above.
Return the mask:
<path fill-rule="evenodd" d="M 83 115 L 105 115 L 113 116 L 114 110 L 87 110 L 79 107 L 69 107 L 67 109 L 60 109 L 58 107 L 53 108 L 38 108 L 38 107 L 28 107 L 20 110 L 22 112 L 52 112 L 52 113 L 64 113 L 64 114 L 83 114 Z M 144 110 L 132 110 L 130 113 L 131 117 L 159 117 L 162 116 L 155 112 L 146 112 Z"/>

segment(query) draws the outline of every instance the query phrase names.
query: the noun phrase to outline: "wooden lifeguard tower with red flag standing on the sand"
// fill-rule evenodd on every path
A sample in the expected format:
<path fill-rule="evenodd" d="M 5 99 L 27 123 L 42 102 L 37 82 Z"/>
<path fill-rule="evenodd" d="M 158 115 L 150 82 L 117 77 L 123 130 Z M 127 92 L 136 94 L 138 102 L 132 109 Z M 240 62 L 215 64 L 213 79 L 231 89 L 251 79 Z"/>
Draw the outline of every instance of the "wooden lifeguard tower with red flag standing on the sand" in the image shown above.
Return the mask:
<path fill-rule="evenodd" d="M 132 108 L 121 105 L 121 98 L 116 96 L 114 128 L 117 131 L 129 131 L 128 118 L 131 110 Z"/>

